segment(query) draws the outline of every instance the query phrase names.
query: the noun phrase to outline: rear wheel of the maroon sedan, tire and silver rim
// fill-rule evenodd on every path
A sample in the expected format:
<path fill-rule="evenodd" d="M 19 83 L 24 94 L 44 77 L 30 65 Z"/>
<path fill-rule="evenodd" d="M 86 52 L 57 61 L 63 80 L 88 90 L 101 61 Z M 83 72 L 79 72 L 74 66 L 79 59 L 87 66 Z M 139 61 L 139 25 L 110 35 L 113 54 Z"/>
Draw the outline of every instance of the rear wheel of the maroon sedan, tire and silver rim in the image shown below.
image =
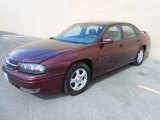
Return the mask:
<path fill-rule="evenodd" d="M 141 64 L 143 63 L 143 60 L 144 60 L 144 52 L 145 52 L 145 50 L 144 50 L 143 47 L 140 48 L 139 51 L 137 52 L 137 55 L 136 55 L 136 57 L 135 57 L 135 59 L 134 59 L 134 65 L 135 65 L 135 66 L 139 66 L 139 65 L 141 65 Z"/>

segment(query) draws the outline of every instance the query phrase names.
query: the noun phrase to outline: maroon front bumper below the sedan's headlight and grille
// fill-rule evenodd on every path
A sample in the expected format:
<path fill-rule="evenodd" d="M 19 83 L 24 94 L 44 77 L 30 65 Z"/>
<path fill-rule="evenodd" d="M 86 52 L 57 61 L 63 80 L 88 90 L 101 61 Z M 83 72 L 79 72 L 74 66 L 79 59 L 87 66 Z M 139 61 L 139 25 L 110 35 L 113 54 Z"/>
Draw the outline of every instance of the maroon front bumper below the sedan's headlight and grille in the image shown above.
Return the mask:
<path fill-rule="evenodd" d="M 17 88 L 29 92 L 48 93 L 52 91 L 61 91 L 63 85 L 64 74 L 59 75 L 27 75 L 17 71 L 10 71 L 2 66 L 3 72 L 7 74 L 8 81 Z"/>

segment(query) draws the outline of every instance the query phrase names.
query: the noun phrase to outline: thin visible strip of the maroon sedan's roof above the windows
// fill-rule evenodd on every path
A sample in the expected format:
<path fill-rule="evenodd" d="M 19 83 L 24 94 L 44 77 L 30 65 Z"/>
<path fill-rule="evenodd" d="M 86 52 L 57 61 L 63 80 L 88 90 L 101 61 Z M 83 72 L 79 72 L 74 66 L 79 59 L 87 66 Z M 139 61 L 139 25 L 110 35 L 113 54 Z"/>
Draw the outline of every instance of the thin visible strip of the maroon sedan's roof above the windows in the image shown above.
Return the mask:
<path fill-rule="evenodd" d="M 131 23 L 117 22 L 117 21 L 96 21 L 96 22 L 82 22 L 82 23 L 78 23 L 78 24 L 96 24 L 96 25 L 109 26 L 109 25 L 113 25 L 113 24 L 131 24 Z"/>

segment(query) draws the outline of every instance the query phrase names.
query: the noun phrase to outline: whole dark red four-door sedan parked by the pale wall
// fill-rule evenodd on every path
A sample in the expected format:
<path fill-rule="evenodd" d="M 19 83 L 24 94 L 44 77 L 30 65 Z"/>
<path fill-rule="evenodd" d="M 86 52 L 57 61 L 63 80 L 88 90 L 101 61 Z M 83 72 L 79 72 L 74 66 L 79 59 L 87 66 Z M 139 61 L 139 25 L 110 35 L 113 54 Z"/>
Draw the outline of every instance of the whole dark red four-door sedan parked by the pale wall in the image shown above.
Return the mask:
<path fill-rule="evenodd" d="M 128 63 L 140 65 L 149 48 L 148 34 L 130 23 L 78 23 L 56 37 L 15 48 L 2 68 L 23 91 L 77 95 L 99 75 Z"/>

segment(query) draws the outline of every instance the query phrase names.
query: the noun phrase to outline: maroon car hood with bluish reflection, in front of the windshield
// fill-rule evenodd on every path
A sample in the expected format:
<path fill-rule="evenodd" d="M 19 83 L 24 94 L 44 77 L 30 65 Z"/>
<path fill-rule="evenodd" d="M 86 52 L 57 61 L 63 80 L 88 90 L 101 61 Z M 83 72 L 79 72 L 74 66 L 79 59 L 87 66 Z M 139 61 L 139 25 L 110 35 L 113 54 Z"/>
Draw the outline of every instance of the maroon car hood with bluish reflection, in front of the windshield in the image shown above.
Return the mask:
<path fill-rule="evenodd" d="M 8 58 L 19 62 L 40 63 L 82 46 L 84 45 L 49 39 L 17 47 L 8 55 Z"/>

